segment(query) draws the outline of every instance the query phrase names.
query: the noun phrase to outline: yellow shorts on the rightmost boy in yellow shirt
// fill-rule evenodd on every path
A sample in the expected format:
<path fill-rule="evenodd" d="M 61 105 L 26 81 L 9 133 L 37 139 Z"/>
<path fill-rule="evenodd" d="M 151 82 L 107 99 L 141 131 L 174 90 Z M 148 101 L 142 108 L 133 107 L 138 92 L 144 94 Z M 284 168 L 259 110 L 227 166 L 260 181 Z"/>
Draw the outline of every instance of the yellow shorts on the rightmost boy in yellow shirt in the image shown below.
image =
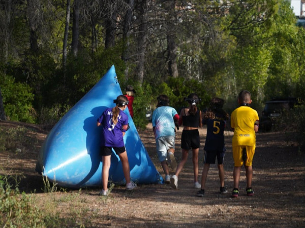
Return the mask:
<path fill-rule="evenodd" d="M 252 166 L 253 156 L 255 153 L 255 146 L 234 146 L 232 148 L 233 151 L 233 160 L 234 160 L 234 166 L 242 166 L 243 160 L 242 160 L 242 149 L 246 148 L 247 150 L 247 160 L 245 162 L 246 166 Z"/>

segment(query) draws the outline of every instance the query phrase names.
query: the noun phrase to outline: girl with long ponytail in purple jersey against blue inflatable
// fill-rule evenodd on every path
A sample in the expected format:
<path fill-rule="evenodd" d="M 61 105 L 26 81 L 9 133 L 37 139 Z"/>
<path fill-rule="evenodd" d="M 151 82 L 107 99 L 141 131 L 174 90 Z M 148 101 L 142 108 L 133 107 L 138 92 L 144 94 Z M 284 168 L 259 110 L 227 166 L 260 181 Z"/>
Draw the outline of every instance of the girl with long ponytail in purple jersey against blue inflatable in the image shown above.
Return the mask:
<path fill-rule="evenodd" d="M 132 190 L 136 187 L 136 184 L 130 180 L 130 168 L 127 157 L 127 152 L 124 144 L 123 137 L 128 129 L 128 116 L 124 113 L 127 108 L 128 99 L 123 95 L 119 95 L 116 100 L 113 100 L 116 104 L 113 108 L 107 108 L 102 116 L 98 119 L 98 127 L 103 126 L 103 134 L 101 137 L 101 150 L 103 168 L 102 168 L 102 182 L 103 190 L 101 195 L 106 196 L 108 193 L 108 178 L 109 169 L 111 163 L 111 151 L 112 148 L 118 155 L 126 179 L 126 189 Z"/>

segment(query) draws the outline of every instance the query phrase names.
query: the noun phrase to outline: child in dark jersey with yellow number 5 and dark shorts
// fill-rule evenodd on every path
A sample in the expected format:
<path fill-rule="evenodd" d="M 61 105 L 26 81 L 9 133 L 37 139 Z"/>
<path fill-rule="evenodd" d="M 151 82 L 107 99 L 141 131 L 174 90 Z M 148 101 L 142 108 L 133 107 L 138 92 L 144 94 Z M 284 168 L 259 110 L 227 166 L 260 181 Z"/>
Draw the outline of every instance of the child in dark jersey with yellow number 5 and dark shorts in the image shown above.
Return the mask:
<path fill-rule="evenodd" d="M 210 164 L 215 164 L 216 157 L 218 162 L 218 173 L 220 179 L 220 192 L 227 193 L 225 187 L 225 174 L 224 174 L 224 158 L 225 158 L 225 137 L 224 130 L 226 121 L 229 118 L 227 112 L 222 107 L 224 100 L 218 97 L 212 98 L 210 107 L 203 115 L 202 123 L 207 125 L 206 139 L 204 145 L 204 159 L 203 170 L 201 175 L 201 189 L 198 191 L 197 196 L 203 197 L 205 181 Z"/>

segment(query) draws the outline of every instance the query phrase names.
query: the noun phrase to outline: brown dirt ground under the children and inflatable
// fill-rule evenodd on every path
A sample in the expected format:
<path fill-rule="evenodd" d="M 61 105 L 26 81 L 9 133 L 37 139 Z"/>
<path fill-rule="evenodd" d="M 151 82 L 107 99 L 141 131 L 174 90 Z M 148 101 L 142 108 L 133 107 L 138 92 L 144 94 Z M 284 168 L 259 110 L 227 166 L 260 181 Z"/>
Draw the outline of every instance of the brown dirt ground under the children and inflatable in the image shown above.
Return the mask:
<path fill-rule="evenodd" d="M 23 125 L 31 130 L 35 149 L 7 153 L 0 151 L 0 174 L 22 174 L 21 191 L 35 195 L 37 205 L 44 208 L 43 199 L 48 194 L 41 191 L 43 180 L 35 172 L 39 148 L 48 131 L 36 126 L 14 122 L 0 122 L 0 128 Z M 203 145 L 206 129 L 200 129 L 201 145 L 199 178 L 203 168 Z M 164 176 L 156 157 L 155 140 L 151 124 L 139 131 L 142 142 Z M 192 153 L 179 175 L 178 189 L 166 184 L 138 185 L 132 192 L 115 186 L 106 200 L 101 200 L 100 189 L 82 189 L 79 207 L 86 208 L 91 227 L 305 227 L 305 152 L 299 151 L 293 137 L 287 141 L 284 132 L 257 133 L 257 148 L 253 162 L 254 196 L 246 195 L 245 169 L 242 169 L 239 197 L 231 198 L 233 188 L 232 132 L 225 134 L 225 185 L 227 194 L 219 194 L 219 177 L 216 165 L 211 165 L 203 198 L 197 197 L 193 188 Z M 1 135 L 0 135 L 1 137 Z M 181 130 L 176 134 L 175 157 L 180 161 Z M 173 174 L 172 170 L 172 174 Z M 77 190 L 51 193 L 54 197 L 74 194 Z M 57 209 L 63 217 L 69 207 L 67 201 L 59 202 Z M 75 224 L 75 227 L 79 225 Z"/>

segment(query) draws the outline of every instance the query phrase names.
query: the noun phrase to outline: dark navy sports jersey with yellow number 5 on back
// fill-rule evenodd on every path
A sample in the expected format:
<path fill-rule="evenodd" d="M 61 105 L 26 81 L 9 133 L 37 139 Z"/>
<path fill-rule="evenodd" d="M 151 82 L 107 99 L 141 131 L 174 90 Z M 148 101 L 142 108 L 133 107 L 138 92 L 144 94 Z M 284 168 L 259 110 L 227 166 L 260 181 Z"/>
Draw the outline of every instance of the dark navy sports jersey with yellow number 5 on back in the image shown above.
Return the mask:
<path fill-rule="evenodd" d="M 216 114 L 214 120 L 209 118 L 203 119 L 202 123 L 207 125 L 204 150 L 225 151 L 225 117 L 223 115 Z"/>

